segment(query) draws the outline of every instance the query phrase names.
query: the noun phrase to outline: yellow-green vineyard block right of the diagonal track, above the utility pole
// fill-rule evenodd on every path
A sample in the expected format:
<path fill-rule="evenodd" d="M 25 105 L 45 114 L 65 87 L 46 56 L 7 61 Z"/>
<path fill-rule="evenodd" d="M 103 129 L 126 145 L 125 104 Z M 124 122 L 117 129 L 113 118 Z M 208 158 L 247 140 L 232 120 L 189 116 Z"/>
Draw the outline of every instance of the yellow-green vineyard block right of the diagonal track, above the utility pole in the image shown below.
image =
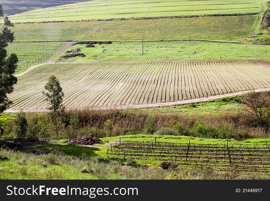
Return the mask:
<path fill-rule="evenodd" d="M 247 37 L 258 15 L 120 20 L 81 40 L 235 40 Z"/>

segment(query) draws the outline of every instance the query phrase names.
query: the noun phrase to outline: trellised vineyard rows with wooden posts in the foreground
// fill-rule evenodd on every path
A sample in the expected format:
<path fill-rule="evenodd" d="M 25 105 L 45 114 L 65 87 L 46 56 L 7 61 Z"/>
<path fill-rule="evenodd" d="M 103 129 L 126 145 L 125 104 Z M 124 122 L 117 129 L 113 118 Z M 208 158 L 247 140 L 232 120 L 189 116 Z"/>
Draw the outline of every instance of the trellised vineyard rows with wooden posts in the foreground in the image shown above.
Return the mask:
<path fill-rule="evenodd" d="M 244 172 L 270 172 L 270 146 L 264 144 L 198 144 L 155 141 L 116 141 L 108 147 L 110 157 L 127 160 L 176 161 L 181 166 L 214 166 L 219 170 L 235 166 Z"/>

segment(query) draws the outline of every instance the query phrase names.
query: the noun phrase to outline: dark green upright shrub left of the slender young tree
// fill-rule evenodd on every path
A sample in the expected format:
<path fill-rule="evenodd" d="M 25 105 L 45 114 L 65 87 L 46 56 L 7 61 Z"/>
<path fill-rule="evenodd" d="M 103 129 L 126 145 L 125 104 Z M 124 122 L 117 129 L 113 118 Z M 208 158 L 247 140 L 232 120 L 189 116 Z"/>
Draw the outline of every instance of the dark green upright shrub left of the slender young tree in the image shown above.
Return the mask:
<path fill-rule="evenodd" d="M 15 125 L 16 138 L 25 138 L 25 133 L 27 131 L 27 119 L 25 117 L 25 113 L 22 110 L 17 113 Z"/>

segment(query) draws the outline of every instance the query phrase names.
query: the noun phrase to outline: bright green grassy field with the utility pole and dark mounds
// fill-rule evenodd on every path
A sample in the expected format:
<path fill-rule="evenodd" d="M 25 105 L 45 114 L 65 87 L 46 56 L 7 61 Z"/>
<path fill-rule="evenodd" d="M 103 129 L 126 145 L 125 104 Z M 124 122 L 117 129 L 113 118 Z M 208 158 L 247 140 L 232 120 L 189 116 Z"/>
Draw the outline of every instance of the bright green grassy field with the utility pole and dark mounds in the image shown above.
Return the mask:
<path fill-rule="evenodd" d="M 68 50 L 79 48 L 85 57 L 60 58 L 53 61 L 172 61 L 202 59 L 269 59 L 270 46 L 236 43 L 215 43 L 207 41 L 160 41 L 144 42 L 142 54 L 141 42 L 112 42 L 95 44 L 95 47 L 83 45 L 71 46 Z"/>

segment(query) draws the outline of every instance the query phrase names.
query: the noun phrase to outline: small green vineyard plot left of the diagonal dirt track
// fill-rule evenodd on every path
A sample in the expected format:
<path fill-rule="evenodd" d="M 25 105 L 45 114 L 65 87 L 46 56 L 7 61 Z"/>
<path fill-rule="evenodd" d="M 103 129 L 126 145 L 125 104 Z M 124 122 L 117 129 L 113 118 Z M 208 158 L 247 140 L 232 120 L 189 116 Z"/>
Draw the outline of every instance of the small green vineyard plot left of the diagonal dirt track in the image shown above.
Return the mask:
<path fill-rule="evenodd" d="M 17 74 L 46 61 L 65 45 L 66 43 L 10 43 L 6 50 L 8 55 L 15 53 L 19 59 Z"/>

